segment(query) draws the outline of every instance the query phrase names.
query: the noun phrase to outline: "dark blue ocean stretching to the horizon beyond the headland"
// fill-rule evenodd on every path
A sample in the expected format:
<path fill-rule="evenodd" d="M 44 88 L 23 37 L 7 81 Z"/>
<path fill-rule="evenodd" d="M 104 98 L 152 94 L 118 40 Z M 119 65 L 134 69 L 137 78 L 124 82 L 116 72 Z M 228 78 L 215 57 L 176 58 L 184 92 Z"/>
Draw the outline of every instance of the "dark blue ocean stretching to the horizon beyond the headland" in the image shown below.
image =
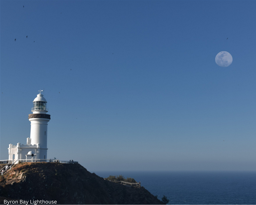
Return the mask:
<path fill-rule="evenodd" d="M 256 205 L 256 172 L 95 172 L 141 181 L 171 205 Z"/>

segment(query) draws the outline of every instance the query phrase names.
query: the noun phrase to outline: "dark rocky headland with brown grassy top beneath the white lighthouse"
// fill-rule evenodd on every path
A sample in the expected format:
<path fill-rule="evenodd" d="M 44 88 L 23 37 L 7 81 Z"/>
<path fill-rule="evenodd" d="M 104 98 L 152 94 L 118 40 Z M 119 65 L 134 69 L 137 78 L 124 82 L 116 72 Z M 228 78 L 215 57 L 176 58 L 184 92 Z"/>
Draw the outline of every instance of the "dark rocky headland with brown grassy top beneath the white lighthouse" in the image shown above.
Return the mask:
<path fill-rule="evenodd" d="M 143 187 L 109 182 L 79 164 L 46 162 L 15 165 L 0 177 L 0 196 L 58 205 L 163 205 Z"/>

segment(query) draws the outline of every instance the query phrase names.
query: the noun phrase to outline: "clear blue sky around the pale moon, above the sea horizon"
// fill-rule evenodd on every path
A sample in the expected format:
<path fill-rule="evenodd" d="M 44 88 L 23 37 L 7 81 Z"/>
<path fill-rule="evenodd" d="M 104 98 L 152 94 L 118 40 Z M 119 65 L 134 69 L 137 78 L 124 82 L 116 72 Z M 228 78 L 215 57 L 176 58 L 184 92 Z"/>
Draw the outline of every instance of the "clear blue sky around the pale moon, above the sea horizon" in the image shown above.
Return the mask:
<path fill-rule="evenodd" d="M 44 89 L 48 158 L 256 171 L 256 1 L 0 4 L 1 159 L 26 143 Z"/>

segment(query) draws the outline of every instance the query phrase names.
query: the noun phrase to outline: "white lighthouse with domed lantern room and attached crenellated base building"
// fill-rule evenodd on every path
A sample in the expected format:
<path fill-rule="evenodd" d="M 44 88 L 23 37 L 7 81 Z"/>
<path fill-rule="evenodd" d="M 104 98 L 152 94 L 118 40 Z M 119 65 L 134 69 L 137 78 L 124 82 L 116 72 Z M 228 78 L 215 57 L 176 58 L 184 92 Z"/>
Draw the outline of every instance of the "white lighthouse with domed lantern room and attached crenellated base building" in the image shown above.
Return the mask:
<path fill-rule="evenodd" d="M 47 159 L 47 125 L 51 118 L 46 114 L 47 101 L 41 91 L 33 101 L 33 114 L 28 115 L 31 122 L 30 138 L 27 138 L 27 144 L 9 144 L 9 160 Z"/>

